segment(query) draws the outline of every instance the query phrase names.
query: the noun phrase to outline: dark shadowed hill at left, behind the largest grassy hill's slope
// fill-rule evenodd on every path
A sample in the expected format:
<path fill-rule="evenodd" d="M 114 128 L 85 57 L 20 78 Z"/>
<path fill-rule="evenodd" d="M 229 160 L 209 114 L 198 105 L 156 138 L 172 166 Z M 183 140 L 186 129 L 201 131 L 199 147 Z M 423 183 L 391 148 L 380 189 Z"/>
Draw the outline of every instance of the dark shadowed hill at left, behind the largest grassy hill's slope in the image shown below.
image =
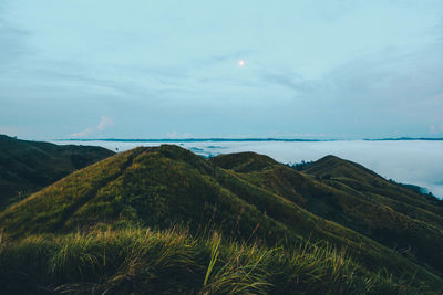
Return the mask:
<path fill-rule="evenodd" d="M 101 147 L 58 146 L 0 135 L 0 209 L 112 155 Z"/>

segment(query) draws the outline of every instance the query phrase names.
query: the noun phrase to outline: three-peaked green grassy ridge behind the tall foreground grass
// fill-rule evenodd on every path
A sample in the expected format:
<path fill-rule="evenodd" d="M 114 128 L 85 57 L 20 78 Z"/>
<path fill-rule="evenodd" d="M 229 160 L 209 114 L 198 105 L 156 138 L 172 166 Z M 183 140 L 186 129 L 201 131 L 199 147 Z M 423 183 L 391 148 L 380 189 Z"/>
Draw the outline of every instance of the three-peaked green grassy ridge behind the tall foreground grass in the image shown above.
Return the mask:
<path fill-rule="evenodd" d="M 7 235 L 96 224 L 208 228 L 291 251 L 346 247 L 369 272 L 443 286 L 443 207 L 364 167 L 328 156 L 299 172 L 255 152 L 204 159 L 177 146 L 136 148 L 75 171 L 0 213 Z"/>

